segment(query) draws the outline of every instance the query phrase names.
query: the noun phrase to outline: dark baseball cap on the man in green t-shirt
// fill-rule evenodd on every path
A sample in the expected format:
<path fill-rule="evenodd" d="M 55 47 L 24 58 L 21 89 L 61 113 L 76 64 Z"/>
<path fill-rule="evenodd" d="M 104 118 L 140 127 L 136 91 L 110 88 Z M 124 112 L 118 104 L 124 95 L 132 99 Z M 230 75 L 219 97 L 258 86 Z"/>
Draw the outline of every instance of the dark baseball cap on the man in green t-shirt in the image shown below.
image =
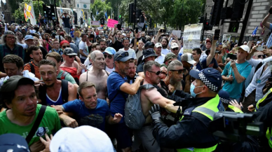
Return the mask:
<path fill-rule="evenodd" d="M 24 82 L 24 84 L 34 85 L 34 81 L 30 78 L 26 78 L 25 76 L 11 76 L 7 81 L 4 81 L 0 92 L 11 92 L 16 90 L 19 83 Z"/>

